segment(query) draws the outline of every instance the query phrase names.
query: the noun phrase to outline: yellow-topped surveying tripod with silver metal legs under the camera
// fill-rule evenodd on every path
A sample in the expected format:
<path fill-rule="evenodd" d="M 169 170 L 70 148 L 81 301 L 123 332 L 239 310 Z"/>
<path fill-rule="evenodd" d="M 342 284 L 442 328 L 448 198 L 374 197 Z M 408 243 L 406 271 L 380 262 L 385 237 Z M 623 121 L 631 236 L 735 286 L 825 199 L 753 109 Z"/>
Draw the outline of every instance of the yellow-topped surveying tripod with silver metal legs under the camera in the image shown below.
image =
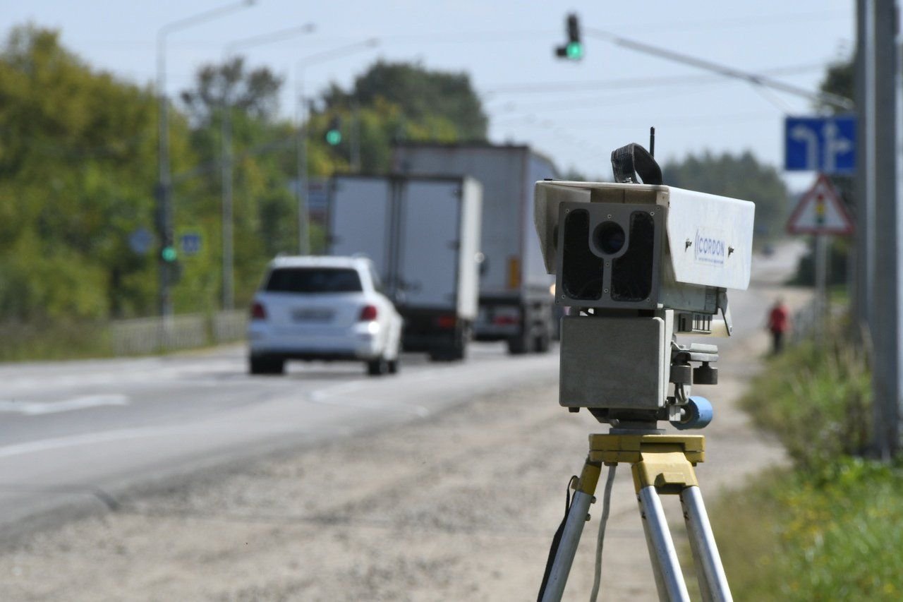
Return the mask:
<path fill-rule="evenodd" d="M 573 486 L 573 502 L 563 522 L 557 547 L 550 553 L 540 591 L 543 602 L 561 600 L 564 584 L 571 571 L 583 523 L 589 520 L 590 504 L 599 482 L 601 465 L 631 465 L 637 491 L 639 512 L 658 597 L 662 600 L 689 600 L 684 575 L 677 562 L 674 541 L 662 509 L 659 494 L 680 495 L 684 519 L 693 550 L 696 577 L 703 599 L 707 602 L 731 600 L 721 557 L 712 536 L 709 517 L 705 513 L 703 495 L 699 491 L 694 466 L 703 462 L 705 439 L 702 435 L 646 435 L 619 430 L 608 435 L 590 436 L 590 453 L 580 479 Z"/>

